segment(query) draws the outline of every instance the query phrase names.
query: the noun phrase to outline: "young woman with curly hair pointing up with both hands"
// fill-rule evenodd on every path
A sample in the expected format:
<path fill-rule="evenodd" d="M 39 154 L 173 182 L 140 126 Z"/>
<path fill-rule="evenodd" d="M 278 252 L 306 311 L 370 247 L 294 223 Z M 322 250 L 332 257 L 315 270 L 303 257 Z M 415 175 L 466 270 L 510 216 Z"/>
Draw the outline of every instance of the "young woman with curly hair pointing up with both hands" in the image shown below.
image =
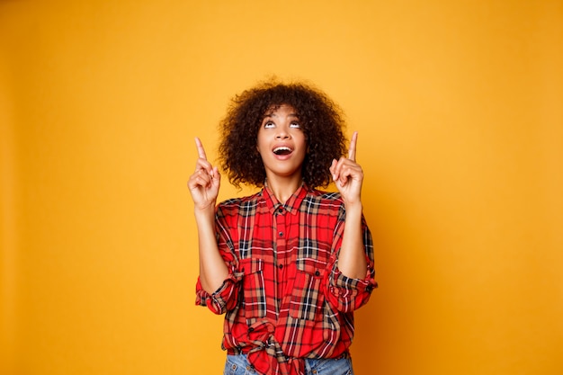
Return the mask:
<path fill-rule="evenodd" d="M 225 374 L 351 374 L 353 311 L 377 286 L 362 215 L 358 134 L 304 84 L 237 95 L 221 121 L 221 169 L 262 188 L 219 203 L 220 174 L 196 138 L 188 187 L 198 228 L 196 303 L 225 315 Z M 317 187 L 335 183 L 338 192 Z"/>

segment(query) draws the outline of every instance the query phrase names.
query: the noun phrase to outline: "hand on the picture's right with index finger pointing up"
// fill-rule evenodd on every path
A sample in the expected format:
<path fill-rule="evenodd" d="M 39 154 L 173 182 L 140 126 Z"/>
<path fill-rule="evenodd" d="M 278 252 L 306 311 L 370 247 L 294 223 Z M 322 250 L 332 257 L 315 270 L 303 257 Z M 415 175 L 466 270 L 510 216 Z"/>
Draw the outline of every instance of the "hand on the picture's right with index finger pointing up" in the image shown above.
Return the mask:
<path fill-rule="evenodd" d="M 348 157 L 342 156 L 340 160 L 333 160 L 330 165 L 330 173 L 333 175 L 336 188 L 340 192 L 346 207 L 362 202 L 362 166 L 356 163 L 356 143 L 358 142 L 358 132 L 354 131 Z"/>

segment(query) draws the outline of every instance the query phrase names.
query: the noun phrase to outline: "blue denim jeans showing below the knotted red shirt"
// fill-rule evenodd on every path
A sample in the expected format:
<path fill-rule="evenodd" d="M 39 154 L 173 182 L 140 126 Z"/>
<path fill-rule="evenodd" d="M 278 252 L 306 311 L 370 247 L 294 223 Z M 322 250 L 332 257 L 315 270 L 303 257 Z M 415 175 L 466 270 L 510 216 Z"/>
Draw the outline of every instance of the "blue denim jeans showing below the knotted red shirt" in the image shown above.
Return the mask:
<path fill-rule="evenodd" d="M 352 360 L 330 358 L 311 360 L 305 359 L 305 373 L 308 375 L 353 375 Z M 250 375 L 256 374 L 255 369 L 246 360 L 246 355 L 228 355 L 225 362 L 223 375 Z"/>

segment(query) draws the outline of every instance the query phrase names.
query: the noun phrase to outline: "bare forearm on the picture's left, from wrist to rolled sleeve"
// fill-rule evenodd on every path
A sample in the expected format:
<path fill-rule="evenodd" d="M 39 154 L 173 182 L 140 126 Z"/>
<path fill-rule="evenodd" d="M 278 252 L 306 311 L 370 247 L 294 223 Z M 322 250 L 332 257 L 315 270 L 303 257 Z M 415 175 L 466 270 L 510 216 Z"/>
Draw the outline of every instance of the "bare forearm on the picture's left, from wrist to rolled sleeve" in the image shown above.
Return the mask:
<path fill-rule="evenodd" d="M 228 268 L 217 246 L 214 210 L 196 210 L 195 219 L 198 227 L 201 287 L 211 294 L 228 278 Z"/>

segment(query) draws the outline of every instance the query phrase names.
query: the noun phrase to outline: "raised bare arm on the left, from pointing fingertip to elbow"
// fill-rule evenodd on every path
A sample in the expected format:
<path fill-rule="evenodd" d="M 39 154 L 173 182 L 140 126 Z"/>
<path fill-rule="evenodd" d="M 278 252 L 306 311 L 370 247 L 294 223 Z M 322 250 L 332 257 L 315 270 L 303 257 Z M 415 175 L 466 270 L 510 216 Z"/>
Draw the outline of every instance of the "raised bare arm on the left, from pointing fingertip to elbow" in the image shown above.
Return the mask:
<path fill-rule="evenodd" d="M 188 180 L 188 188 L 192 194 L 198 227 L 201 287 L 211 294 L 228 277 L 228 268 L 219 254 L 215 237 L 215 206 L 221 176 L 217 166 L 211 165 L 207 160 L 200 138 L 195 138 L 195 145 L 199 157 L 195 172 Z"/>

